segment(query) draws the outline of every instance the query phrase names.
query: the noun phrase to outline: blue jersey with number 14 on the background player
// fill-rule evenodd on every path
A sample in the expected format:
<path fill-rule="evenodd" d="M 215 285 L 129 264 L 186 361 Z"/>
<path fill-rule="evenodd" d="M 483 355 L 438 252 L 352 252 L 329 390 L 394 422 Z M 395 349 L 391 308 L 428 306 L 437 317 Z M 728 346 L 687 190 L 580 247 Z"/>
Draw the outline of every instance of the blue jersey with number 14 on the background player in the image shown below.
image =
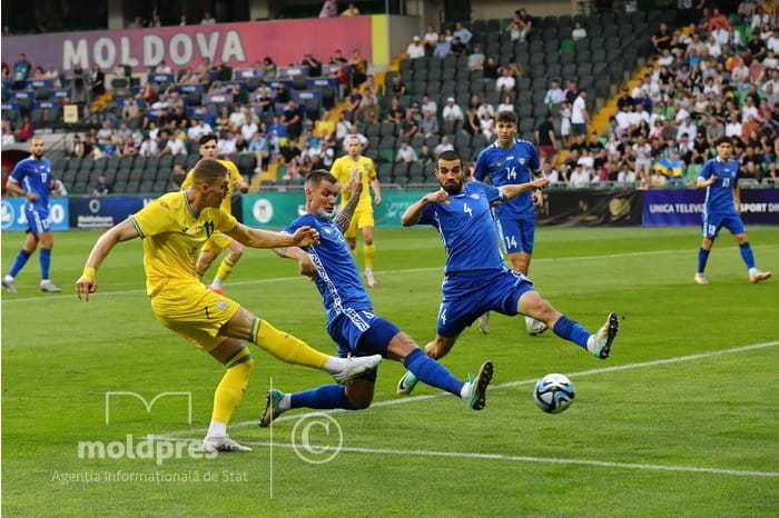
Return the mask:
<path fill-rule="evenodd" d="M 479 153 L 473 178 L 484 181 L 490 177 L 495 187 L 527 183 L 531 181 L 531 172 L 541 169 L 539 151 L 531 142 L 514 139 L 511 149 L 503 149 L 497 142 L 493 142 Z M 516 198 L 501 203 L 495 208 L 497 218 L 534 218 L 535 208 L 531 191 L 526 191 Z"/>

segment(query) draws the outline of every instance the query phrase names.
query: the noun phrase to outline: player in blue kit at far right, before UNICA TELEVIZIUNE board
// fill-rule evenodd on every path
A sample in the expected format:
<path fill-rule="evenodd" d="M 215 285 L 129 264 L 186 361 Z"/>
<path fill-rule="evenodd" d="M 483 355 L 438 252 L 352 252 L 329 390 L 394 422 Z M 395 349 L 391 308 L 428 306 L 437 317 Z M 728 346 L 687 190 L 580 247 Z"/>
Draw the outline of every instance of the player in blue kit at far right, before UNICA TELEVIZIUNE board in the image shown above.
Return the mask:
<path fill-rule="evenodd" d="M 755 255 L 749 246 L 747 229 L 741 221 L 741 191 L 738 183 L 739 162 L 731 160 L 733 142 L 730 137 L 717 140 L 717 158 L 710 159 L 701 169 L 696 181 L 696 188 L 706 187 L 706 205 L 703 209 L 703 243 L 698 250 L 698 271 L 694 280 L 699 285 L 708 285 L 703 276 L 709 260 L 711 247 L 722 227 L 736 237 L 741 258 L 749 269 L 749 280 L 760 282 L 771 277 L 770 271 L 760 271 L 755 267 Z"/>

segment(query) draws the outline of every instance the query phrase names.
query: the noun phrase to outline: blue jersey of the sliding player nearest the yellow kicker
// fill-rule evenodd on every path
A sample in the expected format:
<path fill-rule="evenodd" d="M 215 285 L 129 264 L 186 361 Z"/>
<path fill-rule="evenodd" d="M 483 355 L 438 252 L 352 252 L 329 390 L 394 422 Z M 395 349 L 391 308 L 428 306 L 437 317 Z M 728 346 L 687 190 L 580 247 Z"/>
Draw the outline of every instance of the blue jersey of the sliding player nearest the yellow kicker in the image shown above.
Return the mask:
<path fill-rule="evenodd" d="M 322 293 L 327 320 L 333 321 L 347 310 L 372 311 L 371 299 L 365 292 L 357 263 L 346 245 L 341 227 L 307 213 L 289 223 L 284 231 L 295 233 L 298 228 L 306 226 L 319 232 L 319 243 L 310 245 L 305 250 L 312 257 L 318 273 L 315 282 Z"/>

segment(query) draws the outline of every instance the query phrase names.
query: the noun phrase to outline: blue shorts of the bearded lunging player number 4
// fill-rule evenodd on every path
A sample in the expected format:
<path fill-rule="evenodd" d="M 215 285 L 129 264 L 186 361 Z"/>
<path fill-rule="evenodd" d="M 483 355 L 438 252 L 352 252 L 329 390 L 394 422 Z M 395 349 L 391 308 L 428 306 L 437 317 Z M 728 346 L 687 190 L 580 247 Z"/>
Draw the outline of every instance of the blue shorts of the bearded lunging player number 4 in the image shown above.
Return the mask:
<path fill-rule="evenodd" d="M 485 311 L 513 317 L 519 313 L 520 297 L 527 291 L 534 291 L 530 279 L 507 268 L 450 275 L 444 278 L 436 331 L 454 338 Z"/>

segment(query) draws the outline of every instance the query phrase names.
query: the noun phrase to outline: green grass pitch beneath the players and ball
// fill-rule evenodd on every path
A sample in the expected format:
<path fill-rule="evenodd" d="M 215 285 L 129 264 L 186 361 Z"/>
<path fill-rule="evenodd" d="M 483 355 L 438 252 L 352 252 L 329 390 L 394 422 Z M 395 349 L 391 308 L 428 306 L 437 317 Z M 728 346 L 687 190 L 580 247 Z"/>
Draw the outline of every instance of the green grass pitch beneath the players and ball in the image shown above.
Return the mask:
<path fill-rule="evenodd" d="M 749 235 L 758 266 L 777 272 L 779 229 Z M 255 348 L 230 428 L 254 450 L 210 459 L 186 447 L 199 445 L 223 368 L 154 318 L 138 240 L 119 245 L 98 272 L 98 293 L 77 301 L 73 283 L 97 237 L 56 233 L 52 280 L 62 293 L 38 290 L 37 255 L 19 292 L 2 293 L 7 516 L 779 515 L 779 278 L 751 285 L 727 233 L 710 257 L 710 283 L 697 286 L 696 228 L 540 229 L 531 278 L 542 296 L 591 330 L 617 311 L 620 335 L 612 358 L 599 361 L 493 313 L 490 335 L 466 330 L 443 360 L 460 377 L 494 361 L 481 412 L 423 386 L 396 397 L 403 368 L 385 361 L 372 408 L 296 410 L 260 429 L 270 383 L 290 391 L 329 379 Z M 3 233 L 3 272 L 22 239 Z M 376 249 L 375 310 L 424 345 L 440 302 L 441 242 L 432 229 L 377 229 Z M 319 296 L 294 261 L 248 250 L 226 293 L 335 351 Z M 548 372 L 576 388 L 561 415 L 531 397 Z M 121 391 L 144 401 L 106 405 L 107 392 Z M 191 395 L 191 422 L 184 396 L 147 411 L 162 392 Z M 146 448 L 152 458 L 129 458 L 128 436 L 131 454 Z M 105 445 L 103 458 L 80 456 L 85 442 Z M 171 458 L 154 449 L 178 444 Z"/>

